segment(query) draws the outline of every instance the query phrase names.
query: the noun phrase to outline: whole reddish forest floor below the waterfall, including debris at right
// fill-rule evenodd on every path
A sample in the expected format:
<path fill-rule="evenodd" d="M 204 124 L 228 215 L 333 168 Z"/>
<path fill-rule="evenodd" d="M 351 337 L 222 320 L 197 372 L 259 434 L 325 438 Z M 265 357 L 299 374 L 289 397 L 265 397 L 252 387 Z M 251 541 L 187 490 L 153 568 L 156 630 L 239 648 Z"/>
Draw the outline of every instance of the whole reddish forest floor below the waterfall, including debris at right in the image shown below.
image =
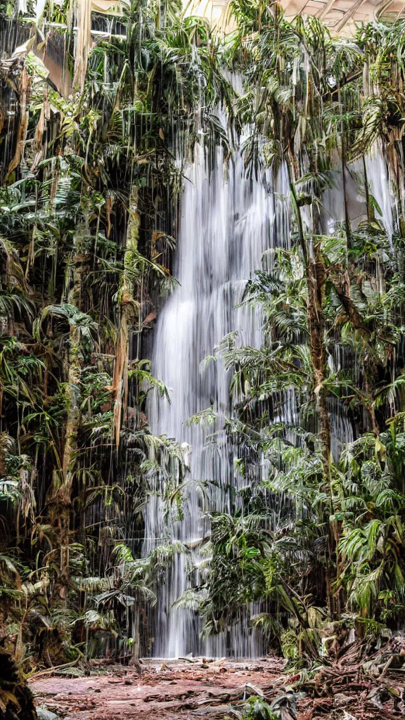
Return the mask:
<path fill-rule="evenodd" d="M 399 720 L 405 675 L 389 657 L 379 660 L 365 664 L 352 653 L 307 679 L 275 657 L 154 660 L 143 662 L 141 675 L 110 665 L 74 678 L 38 673 L 30 686 L 43 720 L 231 720 L 252 695 L 276 702 L 282 720 Z"/>

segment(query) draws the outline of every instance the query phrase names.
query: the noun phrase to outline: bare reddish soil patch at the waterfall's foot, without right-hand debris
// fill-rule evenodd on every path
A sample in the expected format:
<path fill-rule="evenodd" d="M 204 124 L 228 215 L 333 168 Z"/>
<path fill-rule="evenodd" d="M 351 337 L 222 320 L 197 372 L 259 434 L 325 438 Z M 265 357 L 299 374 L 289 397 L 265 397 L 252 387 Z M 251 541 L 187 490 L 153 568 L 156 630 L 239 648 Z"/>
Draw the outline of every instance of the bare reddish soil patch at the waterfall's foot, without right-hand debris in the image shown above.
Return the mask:
<path fill-rule="evenodd" d="M 204 720 L 224 716 L 236 690 L 246 696 L 263 685 L 282 685 L 284 662 L 147 662 L 142 675 L 133 667 L 109 666 L 89 677 L 32 680 L 37 706 L 66 720 Z"/>

